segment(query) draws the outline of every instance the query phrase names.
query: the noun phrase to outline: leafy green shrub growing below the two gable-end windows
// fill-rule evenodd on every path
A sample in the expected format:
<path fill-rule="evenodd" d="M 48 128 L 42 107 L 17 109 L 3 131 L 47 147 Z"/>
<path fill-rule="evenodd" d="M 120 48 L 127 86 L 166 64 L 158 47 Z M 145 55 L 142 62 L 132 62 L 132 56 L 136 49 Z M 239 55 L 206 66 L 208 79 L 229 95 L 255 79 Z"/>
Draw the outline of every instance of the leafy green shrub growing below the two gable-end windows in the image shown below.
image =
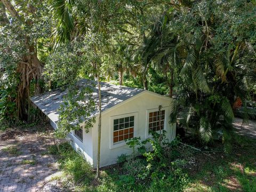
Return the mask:
<path fill-rule="evenodd" d="M 140 191 L 140 183 L 148 186 L 147 191 L 182 191 L 189 183 L 188 175 L 183 173 L 182 167 L 187 163 L 179 159 L 179 138 L 169 142 L 165 131 L 152 132 L 152 137 L 145 141 L 140 138 L 126 140 L 126 144 L 133 149 L 131 159 L 123 164 L 123 174 L 118 186 L 126 185 L 130 189 Z M 151 144 L 152 151 L 146 150 L 147 143 Z M 135 158 L 135 149 L 143 158 Z M 132 185 L 134 185 L 131 188 Z"/>

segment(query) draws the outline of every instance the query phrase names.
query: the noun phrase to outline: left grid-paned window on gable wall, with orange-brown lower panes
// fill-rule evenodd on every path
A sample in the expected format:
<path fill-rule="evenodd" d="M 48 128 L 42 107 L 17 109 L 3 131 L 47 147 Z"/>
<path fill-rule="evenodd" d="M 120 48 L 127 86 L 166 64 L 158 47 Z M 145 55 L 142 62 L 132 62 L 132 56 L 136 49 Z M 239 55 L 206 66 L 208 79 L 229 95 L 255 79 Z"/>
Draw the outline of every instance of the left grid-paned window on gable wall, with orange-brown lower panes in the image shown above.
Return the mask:
<path fill-rule="evenodd" d="M 113 142 L 133 138 L 134 116 L 114 119 Z"/>

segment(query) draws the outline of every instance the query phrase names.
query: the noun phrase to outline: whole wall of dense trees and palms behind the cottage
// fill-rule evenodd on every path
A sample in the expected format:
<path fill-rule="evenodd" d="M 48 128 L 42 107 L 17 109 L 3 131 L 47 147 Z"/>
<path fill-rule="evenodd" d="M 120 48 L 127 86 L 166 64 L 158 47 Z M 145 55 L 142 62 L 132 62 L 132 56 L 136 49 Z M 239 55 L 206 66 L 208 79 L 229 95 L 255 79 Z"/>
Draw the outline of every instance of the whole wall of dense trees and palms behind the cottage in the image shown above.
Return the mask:
<path fill-rule="evenodd" d="M 1 123 L 33 121 L 29 97 L 81 77 L 169 94 L 177 99 L 173 122 L 193 127 L 202 142 L 223 135 L 227 151 L 234 110 L 243 106 L 250 118 L 255 1 L 0 5 Z"/>

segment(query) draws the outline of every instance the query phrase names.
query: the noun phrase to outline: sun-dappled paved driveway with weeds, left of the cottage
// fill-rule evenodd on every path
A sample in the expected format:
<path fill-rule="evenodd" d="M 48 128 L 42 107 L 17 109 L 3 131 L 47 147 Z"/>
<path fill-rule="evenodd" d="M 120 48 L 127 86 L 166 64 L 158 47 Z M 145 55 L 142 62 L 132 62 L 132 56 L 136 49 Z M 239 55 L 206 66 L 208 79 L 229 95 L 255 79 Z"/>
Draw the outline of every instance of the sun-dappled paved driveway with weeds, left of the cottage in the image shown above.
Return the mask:
<path fill-rule="evenodd" d="M 39 125 L 33 129 L 0 140 L 1 192 L 42 191 L 46 181 L 60 174 L 56 159 L 47 155 L 47 148 L 54 145 L 52 128 Z"/>

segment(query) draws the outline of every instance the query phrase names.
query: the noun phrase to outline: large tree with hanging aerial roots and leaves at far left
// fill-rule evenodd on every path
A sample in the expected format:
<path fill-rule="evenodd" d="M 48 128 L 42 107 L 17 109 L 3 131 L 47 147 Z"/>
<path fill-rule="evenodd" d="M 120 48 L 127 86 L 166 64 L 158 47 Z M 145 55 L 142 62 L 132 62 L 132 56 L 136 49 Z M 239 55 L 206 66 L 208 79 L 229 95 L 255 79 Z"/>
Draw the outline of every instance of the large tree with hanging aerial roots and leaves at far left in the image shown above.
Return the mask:
<path fill-rule="evenodd" d="M 43 91 L 39 50 L 50 36 L 46 1 L 0 1 L 1 124 L 34 121 L 29 98 Z"/>

